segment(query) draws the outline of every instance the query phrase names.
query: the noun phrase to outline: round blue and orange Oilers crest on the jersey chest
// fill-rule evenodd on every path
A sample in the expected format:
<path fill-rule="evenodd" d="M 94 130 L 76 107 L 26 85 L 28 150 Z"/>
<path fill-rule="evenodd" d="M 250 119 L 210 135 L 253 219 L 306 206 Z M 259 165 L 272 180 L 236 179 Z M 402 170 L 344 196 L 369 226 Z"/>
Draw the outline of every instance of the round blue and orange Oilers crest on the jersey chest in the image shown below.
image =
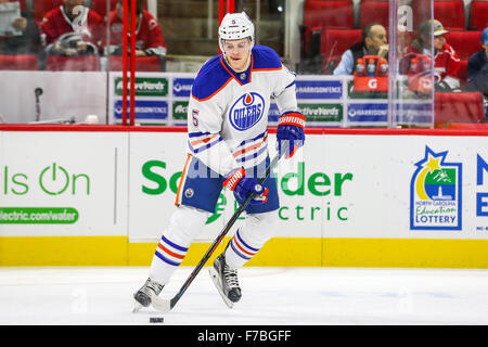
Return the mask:
<path fill-rule="evenodd" d="M 229 112 L 229 119 L 237 130 L 247 130 L 261 119 L 265 113 L 265 99 L 255 92 L 249 92 L 237 99 Z"/>

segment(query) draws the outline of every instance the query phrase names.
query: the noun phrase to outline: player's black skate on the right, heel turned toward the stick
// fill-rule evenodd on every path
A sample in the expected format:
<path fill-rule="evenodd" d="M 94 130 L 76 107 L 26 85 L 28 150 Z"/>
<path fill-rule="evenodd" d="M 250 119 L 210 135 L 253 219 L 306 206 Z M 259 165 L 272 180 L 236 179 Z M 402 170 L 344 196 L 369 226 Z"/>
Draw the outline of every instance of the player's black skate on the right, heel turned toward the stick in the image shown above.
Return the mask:
<path fill-rule="evenodd" d="M 208 271 L 223 301 L 229 308 L 232 308 L 234 303 L 237 303 L 242 296 L 237 281 L 237 270 L 229 268 L 226 264 L 224 254 L 222 253 L 215 259 L 214 267 Z"/>

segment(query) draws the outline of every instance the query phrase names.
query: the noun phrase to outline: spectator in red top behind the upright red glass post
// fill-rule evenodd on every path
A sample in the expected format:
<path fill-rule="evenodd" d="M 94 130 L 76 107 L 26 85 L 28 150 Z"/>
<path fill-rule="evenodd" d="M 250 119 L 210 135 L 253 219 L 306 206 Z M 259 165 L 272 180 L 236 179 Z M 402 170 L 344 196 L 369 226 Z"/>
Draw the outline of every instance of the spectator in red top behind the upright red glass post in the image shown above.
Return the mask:
<path fill-rule="evenodd" d="M 130 2 L 129 2 L 129 47 L 130 47 Z M 142 0 L 137 1 L 136 8 L 136 56 L 166 55 L 166 43 L 157 20 L 142 8 Z M 117 5 L 111 12 L 108 25 L 111 42 L 108 53 L 121 55 L 123 52 L 123 28 L 124 28 L 124 1 L 117 0 Z M 130 52 L 130 50 L 129 50 Z"/>

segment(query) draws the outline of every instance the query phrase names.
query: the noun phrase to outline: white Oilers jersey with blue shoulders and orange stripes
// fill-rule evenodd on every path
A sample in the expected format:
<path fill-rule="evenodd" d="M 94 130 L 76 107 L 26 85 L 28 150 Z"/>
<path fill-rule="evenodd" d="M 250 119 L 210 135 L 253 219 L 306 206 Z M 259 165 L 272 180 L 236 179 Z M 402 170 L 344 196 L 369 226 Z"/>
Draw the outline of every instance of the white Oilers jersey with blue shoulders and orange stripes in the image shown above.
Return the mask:
<path fill-rule="evenodd" d="M 218 55 L 206 62 L 192 86 L 188 107 L 188 152 L 215 172 L 253 167 L 268 156 L 268 113 L 274 98 L 281 114 L 297 112 L 295 74 L 270 48 L 255 46 L 244 73 Z"/>

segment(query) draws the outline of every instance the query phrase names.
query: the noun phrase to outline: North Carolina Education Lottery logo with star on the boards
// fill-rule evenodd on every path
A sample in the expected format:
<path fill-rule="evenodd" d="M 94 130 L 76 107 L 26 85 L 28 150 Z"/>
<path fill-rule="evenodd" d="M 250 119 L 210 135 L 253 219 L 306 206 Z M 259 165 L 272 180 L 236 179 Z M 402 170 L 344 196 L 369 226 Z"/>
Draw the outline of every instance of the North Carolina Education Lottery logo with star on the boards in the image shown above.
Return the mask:
<path fill-rule="evenodd" d="M 447 154 L 425 146 L 424 158 L 415 163 L 410 183 L 411 230 L 461 230 L 462 164 L 447 163 Z"/>

